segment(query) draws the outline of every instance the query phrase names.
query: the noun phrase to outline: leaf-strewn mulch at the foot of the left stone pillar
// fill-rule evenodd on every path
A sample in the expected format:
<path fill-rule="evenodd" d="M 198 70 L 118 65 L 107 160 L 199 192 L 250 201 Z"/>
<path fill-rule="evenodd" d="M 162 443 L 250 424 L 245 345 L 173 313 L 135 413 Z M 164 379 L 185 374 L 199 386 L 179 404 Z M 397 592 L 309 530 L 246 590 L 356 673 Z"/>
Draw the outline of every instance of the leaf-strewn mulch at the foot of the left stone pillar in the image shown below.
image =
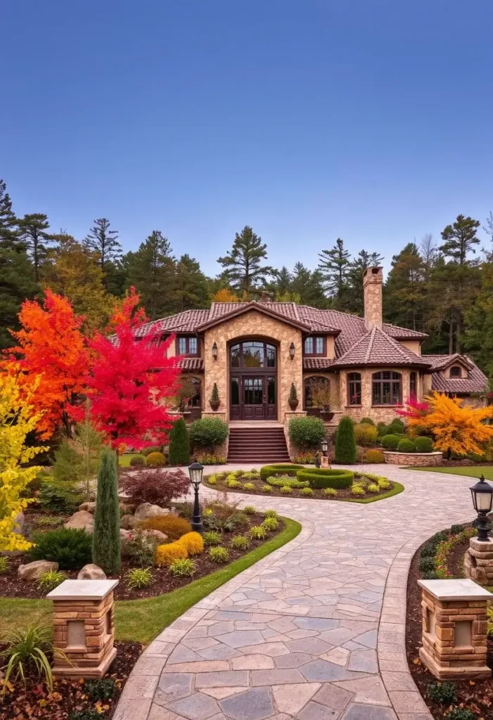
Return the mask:
<path fill-rule="evenodd" d="M 5 647 L 5 646 L 3 646 Z M 83 680 L 53 678 L 53 693 L 48 686 L 40 682 L 37 673 L 31 668 L 26 673 L 26 683 L 22 680 L 12 682 L 5 695 L 0 694 L 0 717 L 2 720 L 66 720 L 72 712 L 94 710 L 101 719 L 111 718 L 118 698 L 122 693 L 128 676 L 132 671 L 143 645 L 139 642 L 115 642 L 117 657 L 114 659 L 105 678 L 112 678 L 117 685 L 117 693 L 109 700 L 94 701 L 89 698 Z M 0 646 L 0 649 L 3 649 Z"/>

